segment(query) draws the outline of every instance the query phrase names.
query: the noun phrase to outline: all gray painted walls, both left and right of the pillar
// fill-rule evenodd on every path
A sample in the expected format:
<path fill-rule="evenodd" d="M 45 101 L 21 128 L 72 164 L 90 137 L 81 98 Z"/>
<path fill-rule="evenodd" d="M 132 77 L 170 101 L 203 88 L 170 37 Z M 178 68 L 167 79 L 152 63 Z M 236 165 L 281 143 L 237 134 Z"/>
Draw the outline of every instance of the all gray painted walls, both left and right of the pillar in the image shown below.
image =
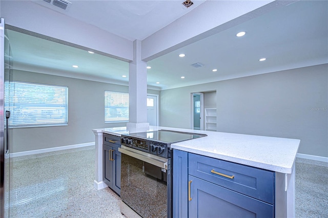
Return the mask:
<path fill-rule="evenodd" d="M 190 129 L 191 93 L 216 90 L 218 131 L 299 138 L 299 153 L 327 157 L 327 74 L 325 64 L 148 93 L 160 94 L 161 126 Z M 69 125 L 12 129 L 11 152 L 89 143 L 93 128 L 125 126 L 105 124 L 104 91 L 127 86 L 26 71 L 14 80 L 68 86 Z"/>

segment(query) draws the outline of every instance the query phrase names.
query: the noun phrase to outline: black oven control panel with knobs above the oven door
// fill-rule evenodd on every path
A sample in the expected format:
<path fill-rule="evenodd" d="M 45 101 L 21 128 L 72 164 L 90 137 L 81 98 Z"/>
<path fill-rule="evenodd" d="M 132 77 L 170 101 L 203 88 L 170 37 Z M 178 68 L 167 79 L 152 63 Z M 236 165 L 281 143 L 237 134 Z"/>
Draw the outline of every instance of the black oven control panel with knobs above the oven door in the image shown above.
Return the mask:
<path fill-rule="evenodd" d="M 122 136 L 121 145 L 145 151 L 157 156 L 169 158 L 168 144 L 159 143 L 151 140 L 144 140 L 136 137 Z"/>

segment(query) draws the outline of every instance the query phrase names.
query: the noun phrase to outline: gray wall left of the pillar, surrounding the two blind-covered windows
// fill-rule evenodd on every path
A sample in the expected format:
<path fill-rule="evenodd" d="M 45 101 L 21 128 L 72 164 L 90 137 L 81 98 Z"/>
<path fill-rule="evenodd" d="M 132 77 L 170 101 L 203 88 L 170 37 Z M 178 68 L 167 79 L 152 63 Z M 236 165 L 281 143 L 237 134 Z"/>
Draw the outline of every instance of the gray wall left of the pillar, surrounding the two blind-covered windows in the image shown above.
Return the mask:
<path fill-rule="evenodd" d="M 94 128 L 126 126 L 105 124 L 105 90 L 128 92 L 128 86 L 99 83 L 27 71 L 14 71 L 14 81 L 68 86 L 68 126 L 11 129 L 11 152 L 94 142 Z M 159 94 L 159 91 L 148 90 Z"/>

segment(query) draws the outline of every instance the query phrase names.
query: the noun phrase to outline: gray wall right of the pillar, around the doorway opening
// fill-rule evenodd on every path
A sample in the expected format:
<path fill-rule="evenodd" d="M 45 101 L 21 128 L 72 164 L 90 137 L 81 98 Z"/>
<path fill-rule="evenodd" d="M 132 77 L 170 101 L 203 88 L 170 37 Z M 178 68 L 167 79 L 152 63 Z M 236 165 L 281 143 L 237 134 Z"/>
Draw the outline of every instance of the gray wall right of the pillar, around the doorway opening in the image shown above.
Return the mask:
<path fill-rule="evenodd" d="M 217 131 L 299 138 L 299 153 L 328 157 L 327 84 L 324 64 L 163 90 L 161 125 L 190 128 L 190 93 L 216 90 Z"/>

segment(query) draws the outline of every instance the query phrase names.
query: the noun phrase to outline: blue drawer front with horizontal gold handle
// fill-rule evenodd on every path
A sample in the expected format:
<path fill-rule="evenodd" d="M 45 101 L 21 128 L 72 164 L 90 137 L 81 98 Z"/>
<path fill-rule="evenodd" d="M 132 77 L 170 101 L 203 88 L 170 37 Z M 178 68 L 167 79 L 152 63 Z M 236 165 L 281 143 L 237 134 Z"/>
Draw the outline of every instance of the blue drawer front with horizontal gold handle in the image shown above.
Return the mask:
<path fill-rule="evenodd" d="M 189 153 L 189 174 L 273 204 L 275 173 Z"/>

